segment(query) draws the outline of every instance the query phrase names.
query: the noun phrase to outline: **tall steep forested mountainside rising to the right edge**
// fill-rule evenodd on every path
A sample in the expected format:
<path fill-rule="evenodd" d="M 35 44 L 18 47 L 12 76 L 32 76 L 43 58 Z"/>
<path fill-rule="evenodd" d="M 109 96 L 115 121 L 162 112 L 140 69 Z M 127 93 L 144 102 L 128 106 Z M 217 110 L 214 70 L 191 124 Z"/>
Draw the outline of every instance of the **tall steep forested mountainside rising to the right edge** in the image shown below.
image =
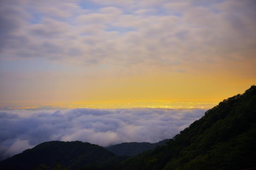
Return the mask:
<path fill-rule="evenodd" d="M 256 167 L 256 86 L 223 100 L 167 145 L 124 160 L 122 169 Z"/>

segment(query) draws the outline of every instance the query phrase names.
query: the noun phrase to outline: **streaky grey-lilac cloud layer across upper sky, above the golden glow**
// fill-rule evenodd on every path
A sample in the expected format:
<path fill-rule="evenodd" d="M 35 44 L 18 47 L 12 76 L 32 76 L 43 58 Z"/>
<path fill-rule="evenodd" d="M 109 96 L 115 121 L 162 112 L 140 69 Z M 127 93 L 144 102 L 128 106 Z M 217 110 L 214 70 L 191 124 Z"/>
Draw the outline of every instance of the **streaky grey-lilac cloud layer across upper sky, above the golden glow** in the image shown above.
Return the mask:
<path fill-rule="evenodd" d="M 0 57 L 57 58 L 70 63 L 74 57 L 66 49 L 77 48 L 81 51 L 76 55 L 80 64 L 116 67 L 143 63 L 146 67 L 176 61 L 182 65 L 198 60 L 252 58 L 255 54 L 253 1 L 92 2 L 95 7 L 68 0 L 3 1 Z M 118 29 L 111 30 L 115 26 Z M 127 27 L 132 33 L 125 31 Z M 186 34 L 180 36 L 181 32 Z M 94 43 L 88 44 L 86 39 Z M 44 50 L 44 43 L 62 51 Z M 88 62 L 92 58 L 99 62 Z"/>

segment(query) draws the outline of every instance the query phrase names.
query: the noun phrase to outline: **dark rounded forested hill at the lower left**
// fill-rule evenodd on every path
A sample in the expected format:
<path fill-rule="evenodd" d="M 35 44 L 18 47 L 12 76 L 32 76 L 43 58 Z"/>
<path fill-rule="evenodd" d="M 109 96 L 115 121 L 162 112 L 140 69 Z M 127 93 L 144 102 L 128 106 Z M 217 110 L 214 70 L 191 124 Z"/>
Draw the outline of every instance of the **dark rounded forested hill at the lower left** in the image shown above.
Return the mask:
<path fill-rule="evenodd" d="M 98 164 L 115 157 L 103 147 L 87 142 L 44 142 L 0 162 L 0 169 L 52 169 Z"/>

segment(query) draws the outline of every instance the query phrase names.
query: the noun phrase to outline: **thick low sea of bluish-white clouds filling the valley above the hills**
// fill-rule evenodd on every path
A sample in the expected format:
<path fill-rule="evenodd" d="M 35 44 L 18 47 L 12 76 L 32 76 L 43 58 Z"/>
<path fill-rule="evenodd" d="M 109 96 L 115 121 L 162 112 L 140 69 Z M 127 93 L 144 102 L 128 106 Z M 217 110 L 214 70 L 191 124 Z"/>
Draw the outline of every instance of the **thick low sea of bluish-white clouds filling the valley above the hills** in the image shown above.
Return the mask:
<path fill-rule="evenodd" d="M 80 140 L 101 146 L 154 143 L 173 137 L 204 112 L 149 108 L 0 110 L 0 159 L 52 140 Z"/>

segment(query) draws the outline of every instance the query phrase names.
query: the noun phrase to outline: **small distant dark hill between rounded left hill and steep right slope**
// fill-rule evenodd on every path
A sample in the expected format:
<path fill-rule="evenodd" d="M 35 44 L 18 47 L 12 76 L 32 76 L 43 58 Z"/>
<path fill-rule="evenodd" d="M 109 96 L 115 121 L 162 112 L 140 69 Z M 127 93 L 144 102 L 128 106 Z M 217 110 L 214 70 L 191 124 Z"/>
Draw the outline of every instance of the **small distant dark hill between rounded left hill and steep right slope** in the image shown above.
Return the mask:
<path fill-rule="evenodd" d="M 157 146 L 162 146 L 166 144 L 170 139 L 164 139 L 162 141 L 159 141 L 157 143 L 149 143 L 149 142 L 125 142 L 121 144 L 115 144 L 108 147 L 105 147 L 108 151 L 111 151 L 115 153 L 117 156 L 123 156 L 123 155 L 137 155 L 141 152 L 153 150 Z"/>

